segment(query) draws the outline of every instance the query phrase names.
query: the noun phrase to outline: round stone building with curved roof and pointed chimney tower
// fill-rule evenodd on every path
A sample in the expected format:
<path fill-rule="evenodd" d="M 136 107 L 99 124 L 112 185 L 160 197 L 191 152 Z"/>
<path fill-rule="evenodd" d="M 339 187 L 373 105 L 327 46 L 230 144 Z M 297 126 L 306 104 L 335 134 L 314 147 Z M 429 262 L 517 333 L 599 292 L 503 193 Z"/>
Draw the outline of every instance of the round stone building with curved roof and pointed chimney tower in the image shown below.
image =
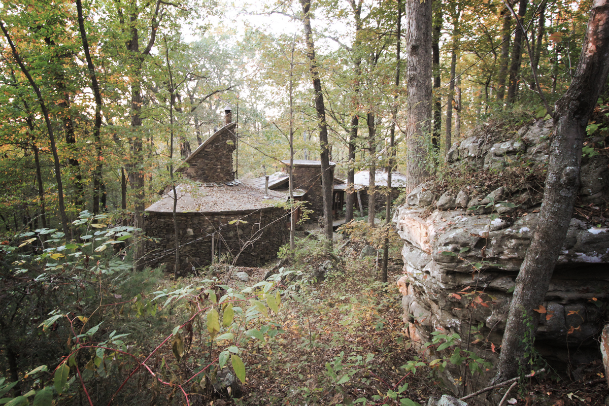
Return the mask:
<path fill-rule="evenodd" d="M 247 186 L 234 178 L 236 123 L 230 111 L 224 127 L 203 142 L 176 171 L 185 182 L 176 187 L 177 201 L 167 188 L 146 209 L 146 263 L 175 264 L 174 201 L 180 264 L 184 275 L 227 255 L 236 265 L 258 265 L 276 257 L 287 240 L 286 211 L 281 194 Z"/>

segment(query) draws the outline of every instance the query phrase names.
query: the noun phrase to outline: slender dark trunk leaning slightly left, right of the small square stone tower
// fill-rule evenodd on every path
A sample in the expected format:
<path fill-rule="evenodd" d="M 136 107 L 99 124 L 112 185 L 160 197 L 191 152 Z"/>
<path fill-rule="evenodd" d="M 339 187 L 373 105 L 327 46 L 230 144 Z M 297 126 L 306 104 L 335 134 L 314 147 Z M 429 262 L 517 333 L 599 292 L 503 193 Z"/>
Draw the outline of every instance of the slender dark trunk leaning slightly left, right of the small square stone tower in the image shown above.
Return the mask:
<path fill-rule="evenodd" d="M 323 192 L 323 217 L 325 220 L 326 249 L 332 248 L 332 189 L 334 180 L 330 168 L 329 144 L 328 144 L 328 124 L 326 124 L 326 108 L 323 104 L 322 82 L 319 79 L 319 69 L 315 60 L 315 45 L 313 42 L 313 30 L 311 29 L 311 0 L 300 0 L 303 8 L 303 25 L 305 26 L 305 37 L 307 45 L 307 57 L 309 58 L 309 70 L 313 80 L 313 90 L 315 92 L 315 110 L 319 121 L 319 146 L 322 149 L 322 192 Z"/>

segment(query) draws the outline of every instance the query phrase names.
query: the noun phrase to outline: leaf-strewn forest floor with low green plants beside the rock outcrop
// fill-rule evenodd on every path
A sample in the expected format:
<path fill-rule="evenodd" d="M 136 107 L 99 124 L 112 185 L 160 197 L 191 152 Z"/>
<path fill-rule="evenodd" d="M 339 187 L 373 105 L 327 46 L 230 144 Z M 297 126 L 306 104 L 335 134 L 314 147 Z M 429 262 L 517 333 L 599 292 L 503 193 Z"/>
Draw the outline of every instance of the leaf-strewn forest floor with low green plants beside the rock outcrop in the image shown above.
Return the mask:
<path fill-rule="evenodd" d="M 337 244 L 340 244 L 337 243 Z M 376 256 L 360 258 L 364 245 L 348 243 L 326 257 L 314 240 L 286 268 L 301 271 L 290 299 L 273 318 L 283 332 L 249 342 L 244 354 L 247 382 L 236 399 L 209 399 L 208 405 L 425 405 L 430 397 L 452 394 L 439 365 L 411 348 L 396 280 L 403 275 L 400 250 L 392 250 L 387 284 L 379 282 Z M 329 261 L 329 262 L 328 262 Z M 306 275 L 332 264 L 319 281 Z M 261 281 L 266 268 L 239 268 Z M 238 287 L 242 282 L 231 280 Z M 289 284 L 289 282 L 286 282 Z M 523 380 L 504 405 L 606 405 L 609 395 L 602 362 L 578 369 L 579 379 L 543 374 Z M 470 375 L 469 373 L 466 373 Z M 474 379 L 469 378 L 472 383 Z M 499 394 L 501 399 L 505 389 Z M 415 403 L 416 402 L 416 403 Z M 470 405 L 498 405 L 497 399 L 470 398 Z"/>

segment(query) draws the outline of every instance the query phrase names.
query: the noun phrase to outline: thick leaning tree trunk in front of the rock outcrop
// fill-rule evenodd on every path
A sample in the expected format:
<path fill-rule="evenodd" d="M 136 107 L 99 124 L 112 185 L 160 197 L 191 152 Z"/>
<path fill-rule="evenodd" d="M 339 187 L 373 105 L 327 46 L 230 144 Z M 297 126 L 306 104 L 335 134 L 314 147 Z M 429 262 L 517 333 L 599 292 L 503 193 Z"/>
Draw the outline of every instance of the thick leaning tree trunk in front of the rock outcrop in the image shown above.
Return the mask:
<path fill-rule="evenodd" d="M 526 362 L 522 343 L 526 321 L 532 317 L 532 326 L 537 326 L 539 314 L 533 309 L 544 300 L 571 222 L 586 125 L 608 72 L 609 0 L 594 0 L 577 73 L 556 103 L 539 223 L 516 278 L 495 382 L 515 376 L 519 363 Z"/>

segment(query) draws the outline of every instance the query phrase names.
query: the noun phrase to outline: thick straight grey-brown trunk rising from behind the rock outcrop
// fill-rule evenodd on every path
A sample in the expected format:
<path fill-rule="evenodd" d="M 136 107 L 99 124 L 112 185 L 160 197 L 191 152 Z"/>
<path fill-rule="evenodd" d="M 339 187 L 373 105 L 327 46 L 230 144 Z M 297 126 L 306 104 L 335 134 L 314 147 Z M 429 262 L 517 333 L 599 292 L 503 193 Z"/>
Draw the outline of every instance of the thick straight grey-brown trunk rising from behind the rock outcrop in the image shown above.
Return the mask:
<path fill-rule="evenodd" d="M 431 0 L 406 1 L 406 189 L 429 178 L 431 130 Z"/>

